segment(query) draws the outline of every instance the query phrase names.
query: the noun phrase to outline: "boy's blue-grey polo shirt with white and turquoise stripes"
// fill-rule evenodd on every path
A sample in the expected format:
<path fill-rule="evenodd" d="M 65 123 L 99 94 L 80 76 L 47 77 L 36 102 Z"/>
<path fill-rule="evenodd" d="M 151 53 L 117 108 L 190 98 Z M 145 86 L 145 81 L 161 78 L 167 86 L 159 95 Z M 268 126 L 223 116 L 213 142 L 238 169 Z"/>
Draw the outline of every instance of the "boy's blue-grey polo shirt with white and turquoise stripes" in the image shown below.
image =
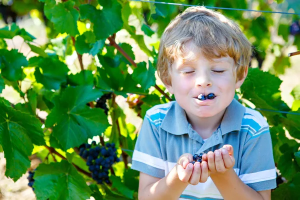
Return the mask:
<path fill-rule="evenodd" d="M 132 156 L 132 169 L 163 178 L 183 153 L 207 153 L 224 144 L 233 146 L 234 171 L 256 191 L 276 187 L 269 126 L 256 110 L 233 99 L 219 127 L 203 140 L 186 119 L 176 101 L 146 111 Z M 230 182 L 224 182 L 230 184 Z M 206 182 L 189 184 L 179 199 L 223 199 L 208 177 Z"/>

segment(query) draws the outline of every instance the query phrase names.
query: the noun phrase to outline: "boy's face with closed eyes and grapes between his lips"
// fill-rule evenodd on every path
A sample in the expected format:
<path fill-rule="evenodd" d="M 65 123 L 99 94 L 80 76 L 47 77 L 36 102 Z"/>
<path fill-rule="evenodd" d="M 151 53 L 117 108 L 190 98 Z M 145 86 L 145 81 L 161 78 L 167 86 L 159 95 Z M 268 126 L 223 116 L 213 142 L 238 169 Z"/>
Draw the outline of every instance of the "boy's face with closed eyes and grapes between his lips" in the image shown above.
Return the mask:
<path fill-rule="evenodd" d="M 235 82 L 233 73 L 234 60 L 222 57 L 214 61 L 207 60 L 198 54 L 191 42 L 187 43 L 188 53 L 196 53 L 198 59 L 182 63 L 182 59 L 174 60 L 171 65 L 171 84 L 166 85 L 174 94 L 178 104 L 187 115 L 209 117 L 223 111 L 232 101 L 236 88 L 244 78 Z M 245 75 L 247 70 L 245 71 Z M 214 99 L 198 100 L 199 94 L 214 93 Z"/>

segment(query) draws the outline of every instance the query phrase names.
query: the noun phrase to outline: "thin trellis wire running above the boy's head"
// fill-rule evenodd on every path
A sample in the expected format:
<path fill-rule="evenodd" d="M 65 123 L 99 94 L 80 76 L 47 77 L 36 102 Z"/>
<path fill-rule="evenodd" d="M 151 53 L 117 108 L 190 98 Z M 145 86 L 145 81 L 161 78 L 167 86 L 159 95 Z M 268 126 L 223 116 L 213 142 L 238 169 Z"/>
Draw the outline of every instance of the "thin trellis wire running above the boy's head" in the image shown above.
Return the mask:
<path fill-rule="evenodd" d="M 160 2 L 160 1 L 152 1 L 152 0 L 129 0 L 129 1 L 140 1 L 140 2 L 148 2 L 148 3 L 168 4 L 168 5 L 180 5 L 180 6 L 188 6 L 188 7 L 197 6 L 197 5 L 184 4 L 184 3 Z M 267 12 L 267 13 L 280 13 L 280 14 L 300 15 L 300 13 L 290 13 L 290 12 L 280 12 L 280 11 L 241 9 L 241 8 L 230 8 L 230 7 L 215 7 L 215 6 L 205 6 L 205 5 L 203 5 L 203 7 L 211 8 L 211 9 L 228 9 L 228 10 L 242 10 L 242 11 L 251 11 L 251 12 Z"/>

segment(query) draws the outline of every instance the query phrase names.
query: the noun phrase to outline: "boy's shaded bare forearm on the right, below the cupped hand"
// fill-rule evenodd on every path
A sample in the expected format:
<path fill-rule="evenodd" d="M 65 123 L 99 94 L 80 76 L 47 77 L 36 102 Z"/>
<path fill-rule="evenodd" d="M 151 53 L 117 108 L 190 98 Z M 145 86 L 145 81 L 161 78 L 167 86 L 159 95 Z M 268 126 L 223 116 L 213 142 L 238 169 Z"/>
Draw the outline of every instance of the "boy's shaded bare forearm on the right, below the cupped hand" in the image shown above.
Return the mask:
<path fill-rule="evenodd" d="M 238 199 L 255 199 L 255 200 L 269 200 L 271 199 L 271 190 L 255 191 L 237 176 L 233 168 L 224 173 L 210 174 L 215 186 L 222 194 L 224 200 L 238 200 Z M 228 184 L 224 184 L 227 182 Z"/>

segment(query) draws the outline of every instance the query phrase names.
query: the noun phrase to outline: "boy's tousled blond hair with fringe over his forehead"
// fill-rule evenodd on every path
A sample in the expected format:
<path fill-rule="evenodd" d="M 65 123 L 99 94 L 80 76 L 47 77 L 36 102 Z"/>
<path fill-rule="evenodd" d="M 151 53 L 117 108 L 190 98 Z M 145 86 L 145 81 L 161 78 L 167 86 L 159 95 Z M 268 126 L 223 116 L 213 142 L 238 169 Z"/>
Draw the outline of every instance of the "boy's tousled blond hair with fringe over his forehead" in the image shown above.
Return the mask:
<path fill-rule="evenodd" d="M 236 80 L 242 78 L 250 62 L 251 43 L 232 20 L 217 11 L 194 6 L 178 14 L 160 38 L 157 73 L 164 84 L 171 85 L 170 70 L 174 59 L 187 58 L 183 52 L 188 41 L 208 60 L 232 57 Z"/>

